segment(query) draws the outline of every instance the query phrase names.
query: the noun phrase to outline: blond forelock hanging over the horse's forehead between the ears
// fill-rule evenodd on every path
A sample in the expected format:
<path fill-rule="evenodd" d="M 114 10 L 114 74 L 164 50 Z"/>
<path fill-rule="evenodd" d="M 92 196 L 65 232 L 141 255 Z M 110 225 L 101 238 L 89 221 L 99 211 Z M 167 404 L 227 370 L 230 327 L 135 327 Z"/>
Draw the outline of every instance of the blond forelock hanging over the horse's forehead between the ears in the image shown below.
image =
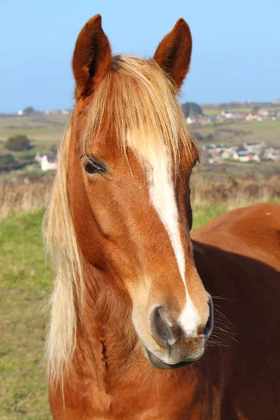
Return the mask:
<path fill-rule="evenodd" d="M 113 133 L 125 155 L 130 146 L 143 165 L 153 161 L 163 145 L 175 172 L 181 151 L 189 160 L 195 154 L 195 140 L 176 100 L 174 85 L 153 60 L 113 57 L 111 71 L 92 94 L 82 139 L 84 153 L 100 130 Z"/>

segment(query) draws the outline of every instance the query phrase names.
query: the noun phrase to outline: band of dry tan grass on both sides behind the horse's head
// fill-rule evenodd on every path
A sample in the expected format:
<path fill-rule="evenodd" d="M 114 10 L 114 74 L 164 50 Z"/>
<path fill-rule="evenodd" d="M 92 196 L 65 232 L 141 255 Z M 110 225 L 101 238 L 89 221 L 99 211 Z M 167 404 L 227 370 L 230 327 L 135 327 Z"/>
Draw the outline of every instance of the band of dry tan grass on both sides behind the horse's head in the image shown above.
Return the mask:
<path fill-rule="evenodd" d="M 28 185 L 0 185 L 0 218 L 19 211 L 44 209 L 50 200 L 52 182 Z M 213 182 L 193 177 L 191 197 L 195 207 L 222 206 L 226 209 L 244 207 L 256 202 L 280 200 L 279 176 L 267 180 L 236 180 Z"/>

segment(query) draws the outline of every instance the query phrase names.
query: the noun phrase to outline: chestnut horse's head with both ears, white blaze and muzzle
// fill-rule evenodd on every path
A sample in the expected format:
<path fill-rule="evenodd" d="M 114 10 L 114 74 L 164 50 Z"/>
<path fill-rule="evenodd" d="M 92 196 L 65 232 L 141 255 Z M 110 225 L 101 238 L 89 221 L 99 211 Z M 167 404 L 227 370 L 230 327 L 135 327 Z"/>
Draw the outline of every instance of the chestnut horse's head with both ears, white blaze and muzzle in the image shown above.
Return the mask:
<path fill-rule="evenodd" d="M 194 146 L 187 153 L 180 146 L 180 136 L 176 144 L 171 138 L 155 138 L 156 118 L 149 116 L 149 111 L 155 113 L 154 107 L 167 107 L 166 118 L 173 112 L 180 123 L 181 113 L 174 111 L 174 92 L 188 71 L 190 52 L 190 30 L 179 20 L 160 43 L 155 62 L 132 64 L 127 59 L 127 64 L 124 58 L 115 59 L 112 71 L 109 42 L 97 16 L 80 32 L 73 57 L 77 103 L 71 122 L 67 185 L 78 245 L 86 260 L 127 295 L 146 356 L 155 367 L 166 369 L 200 358 L 213 323 L 211 297 L 197 274 L 190 240 L 188 182 L 197 153 Z M 158 85 L 153 83 L 155 75 Z M 151 101 L 139 134 L 139 125 L 134 127 L 131 120 L 134 116 L 137 120 L 142 115 L 138 109 L 148 103 L 148 93 L 142 92 L 141 99 L 144 76 L 152 92 L 158 86 L 153 98 L 167 99 L 160 104 Z M 128 78 L 131 85 L 127 85 Z M 123 84 L 118 85 L 121 80 Z M 121 88 L 127 89 L 127 95 L 125 105 L 118 109 L 122 101 L 115 99 Z M 108 92 L 111 97 L 105 101 Z M 91 104 L 98 108 L 103 100 L 108 106 L 102 110 L 98 130 L 90 132 L 91 141 L 82 148 L 80 139 L 88 129 Z M 121 125 L 126 130 L 121 143 L 125 151 L 118 139 L 122 130 L 115 130 L 120 126 L 118 112 L 127 115 Z M 170 144 L 176 146 L 176 159 Z"/>

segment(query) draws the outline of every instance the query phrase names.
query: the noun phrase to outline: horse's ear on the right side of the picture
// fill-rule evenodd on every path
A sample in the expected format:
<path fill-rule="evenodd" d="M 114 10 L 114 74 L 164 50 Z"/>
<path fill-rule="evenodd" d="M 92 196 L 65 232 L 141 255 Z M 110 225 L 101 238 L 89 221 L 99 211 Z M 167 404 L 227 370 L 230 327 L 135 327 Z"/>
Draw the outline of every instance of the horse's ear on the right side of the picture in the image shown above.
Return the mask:
<path fill-rule="evenodd" d="M 188 24 L 182 18 L 169 34 L 162 39 L 154 59 L 180 89 L 190 68 L 192 36 Z"/>

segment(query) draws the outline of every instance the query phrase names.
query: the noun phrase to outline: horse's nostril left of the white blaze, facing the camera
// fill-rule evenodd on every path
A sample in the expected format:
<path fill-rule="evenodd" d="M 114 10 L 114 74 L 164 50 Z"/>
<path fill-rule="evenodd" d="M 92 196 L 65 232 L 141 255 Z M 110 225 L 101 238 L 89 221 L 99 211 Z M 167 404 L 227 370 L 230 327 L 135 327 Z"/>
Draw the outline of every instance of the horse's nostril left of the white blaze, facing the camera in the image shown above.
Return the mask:
<path fill-rule="evenodd" d="M 150 318 L 151 335 L 160 346 L 174 344 L 174 335 L 172 330 L 167 325 L 165 318 L 165 311 L 163 307 L 155 308 L 151 313 Z"/>

